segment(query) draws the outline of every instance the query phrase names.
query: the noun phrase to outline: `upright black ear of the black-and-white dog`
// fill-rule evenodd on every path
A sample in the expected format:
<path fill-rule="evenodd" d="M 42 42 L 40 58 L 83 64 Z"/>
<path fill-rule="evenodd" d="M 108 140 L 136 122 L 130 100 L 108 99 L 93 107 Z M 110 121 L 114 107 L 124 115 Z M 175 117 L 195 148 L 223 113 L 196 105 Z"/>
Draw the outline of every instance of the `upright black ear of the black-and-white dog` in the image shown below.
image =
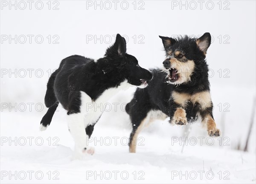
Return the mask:
<path fill-rule="evenodd" d="M 126 53 L 126 41 L 125 38 L 121 37 L 120 34 L 116 34 L 116 42 L 107 49 L 107 56 L 118 55 L 122 57 Z"/>

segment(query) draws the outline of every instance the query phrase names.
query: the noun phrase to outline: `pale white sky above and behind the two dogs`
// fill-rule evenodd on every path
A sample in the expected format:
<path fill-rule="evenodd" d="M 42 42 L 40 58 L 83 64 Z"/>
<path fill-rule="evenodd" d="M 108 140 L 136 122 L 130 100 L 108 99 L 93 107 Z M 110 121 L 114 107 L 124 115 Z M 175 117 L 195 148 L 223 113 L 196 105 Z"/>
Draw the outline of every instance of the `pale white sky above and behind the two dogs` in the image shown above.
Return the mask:
<path fill-rule="evenodd" d="M 59 10 L 52 10 L 57 5 L 53 2 L 49 10 L 49 4 L 44 1 L 44 7 L 38 10 L 35 2 L 32 3 L 32 10 L 29 10 L 29 3 L 26 3 L 25 10 L 19 9 L 23 8 L 23 3 L 17 3 L 15 10 L 15 6 L 9 7 L 8 1 L 7 6 L 1 7 L 1 35 L 34 35 L 32 44 L 29 44 L 28 36 L 24 44 L 20 43 L 23 42 L 23 37 L 20 37 L 20 42 L 17 39 L 17 44 L 14 40 L 9 44 L 9 36 L 7 40 L 3 36 L 1 38 L 1 68 L 11 68 L 12 71 L 17 69 L 18 73 L 17 79 L 14 75 L 9 78 L 9 71 L 8 74 L 3 74 L 2 100 L 27 98 L 27 94 L 34 99 L 41 98 L 45 92 L 48 69 L 58 68 L 61 59 L 72 54 L 94 59 L 102 57 L 110 45 L 109 38 L 112 37 L 113 43 L 112 35 L 116 33 L 127 35 L 128 53 L 137 57 L 141 66 L 151 68 L 161 67 L 164 60 L 163 45 L 158 35 L 198 36 L 209 32 L 213 39 L 207 53 L 211 84 L 253 88 L 255 91 L 255 1 L 212 1 L 212 9 L 209 1 L 202 4 L 198 1 L 183 1 L 183 4 L 187 3 L 187 7 L 180 6 L 180 1 L 143 1 L 136 2 L 136 10 L 133 1 L 128 1 L 126 10 L 126 3 L 122 1 L 117 3 L 116 10 L 112 1 L 110 10 L 104 9 L 109 7 L 109 3 L 102 2 L 101 10 L 101 6 L 94 6 L 94 1 L 58 1 L 56 8 Z M 90 3 L 93 5 L 89 6 Z M 195 5 L 195 10 L 190 9 Z M 38 3 L 37 8 L 40 6 Z M 144 10 L 139 10 L 139 7 Z M 230 9 L 226 10 L 227 8 Z M 35 42 L 37 35 L 44 37 L 41 44 Z M 58 35 L 59 44 L 49 44 L 48 35 L 52 37 L 50 42 L 57 38 L 53 35 Z M 93 35 L 93 40 L 89 40 L 90 35 Z M 101 35 L 102 40 L 96 40 Z M 140 40 L 143 44 L 139 44 Z M 20 69 L 26 70 L 25 78 L 19 77 L 24 75 Z M 34 69 L 32 78 L 29 78 L 27 69 Z M 42 78 L 36 77 L 36 69 L 44 71 Z M 230 77 L 224 78 L 225 74 Z M 41 75 L 40 71 L 38 75 Z M 35 86 L 42 91 L 30 93 Z M 14 87 L 19 93 L 10 96 Z"/>

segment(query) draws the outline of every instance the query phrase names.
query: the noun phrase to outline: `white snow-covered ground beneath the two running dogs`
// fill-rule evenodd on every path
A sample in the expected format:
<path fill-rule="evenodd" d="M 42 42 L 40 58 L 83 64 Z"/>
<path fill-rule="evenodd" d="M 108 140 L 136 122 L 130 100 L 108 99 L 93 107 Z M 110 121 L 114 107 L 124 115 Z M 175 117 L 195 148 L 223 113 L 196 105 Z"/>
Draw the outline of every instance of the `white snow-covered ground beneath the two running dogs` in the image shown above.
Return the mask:
<path fill-rule="evenodd" d="M 133 91 L 133 88 L 121 91 L 110 103 L 124 95 L 126 98 L 119 102 L 127 101 Z M 64 109 L 59 108 L 46 131 L 38 130 L 43 113 L 37 114 L 34 116 L 29 112 L 20 112 L 12 116 L 12 112 L 1 113 L 1 171 L 11 172 L 7 175 L 1 173 L 3 183 L 256 181 L 255 151 L 248 153 L 234 150 L 232 136 L 225 133 L 221 139 L 210 138 L 205 128 L 198 123 L 186 129 L 184 126 L 169 125 L 168 119 L 156 120 L 139 134 L 137 153 L 129 153 L 129 117 L 122 110 L 115 112 L 113 108 L 103 113 L 89 139 L 89 146 L 95 147 L 94 155 L 73 160 L 74 142 L 67 128 Z M 17 179 L 14 179 L 15 171 Z M 22 171 L 26 173 L 24 180 L 20 179 L 25 176 Z M 31 179 L 29 171 L 34 171 Z M 36 175 L 36 172 L 39 173 Z M 39 180 L 41 173 L 43 177 Z M 14 174 L 12 180 L 9 179 L 10 174 Z"/>

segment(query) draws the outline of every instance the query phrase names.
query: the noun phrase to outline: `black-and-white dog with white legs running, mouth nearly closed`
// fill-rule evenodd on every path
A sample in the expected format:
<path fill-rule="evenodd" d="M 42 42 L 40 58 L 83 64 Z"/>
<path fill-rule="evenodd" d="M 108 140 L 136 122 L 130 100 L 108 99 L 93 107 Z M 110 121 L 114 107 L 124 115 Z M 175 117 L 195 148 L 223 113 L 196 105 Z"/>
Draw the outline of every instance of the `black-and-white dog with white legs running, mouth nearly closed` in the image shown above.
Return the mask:
<path fill-rule="evenodd" d="M 58 104 L 67 110 L 68 127 L 75 141 L 75 156 L 93 154 L 88 147 L 94 125 L 102 110 L 88 108 L 88 104 L 99 107 L 121 89 L 131 85 L 145 88 L 152 74 L 141 68 L 137 59 L 126 53 L 126 41 L 120 34 L 107 49 L 105 56 L 96 62 L 93 59 L 74 55 L 61 61 L 59 68 L 47 83 L 45 105 L 47 113 L 41 120 L 41 130 L 50 125 Z M 99 109 L 99 108 L 97 108 Z"/>

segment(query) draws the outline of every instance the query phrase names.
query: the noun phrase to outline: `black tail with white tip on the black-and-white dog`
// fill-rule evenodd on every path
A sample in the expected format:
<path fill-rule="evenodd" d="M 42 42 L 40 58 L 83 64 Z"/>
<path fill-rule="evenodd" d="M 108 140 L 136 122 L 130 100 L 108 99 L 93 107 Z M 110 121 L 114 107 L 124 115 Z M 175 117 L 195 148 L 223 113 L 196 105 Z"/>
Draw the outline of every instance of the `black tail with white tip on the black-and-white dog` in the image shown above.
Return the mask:
<path fill-rule="evenodd" d="M 49 78 L 49 81 L 47 83 L 47 91 L 44 97 L 44 103 L 46 105 L 47 108 L 49 108 L 47 110 L 47 113 L 44 115 L 44 117 L 42 118 L 41 122 L 40 122 L 40 130 L 46 130 L 46 128 L 50 125 L 51 121 L 52 121 L 52 116 L 55 113 L 56 108 L 58 107 L 58 99 L 55 96 L 54 93 L 54 81 L 56 78 L 56 75 L 58 74 L 58 72 L 61 70 L 62 65 L 64 64 L 64 59 L 61 61 L 60 67 L 54 71 L 52 73 L 52 75 Z"/>

